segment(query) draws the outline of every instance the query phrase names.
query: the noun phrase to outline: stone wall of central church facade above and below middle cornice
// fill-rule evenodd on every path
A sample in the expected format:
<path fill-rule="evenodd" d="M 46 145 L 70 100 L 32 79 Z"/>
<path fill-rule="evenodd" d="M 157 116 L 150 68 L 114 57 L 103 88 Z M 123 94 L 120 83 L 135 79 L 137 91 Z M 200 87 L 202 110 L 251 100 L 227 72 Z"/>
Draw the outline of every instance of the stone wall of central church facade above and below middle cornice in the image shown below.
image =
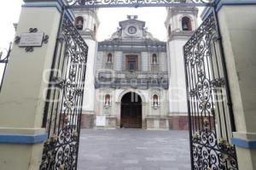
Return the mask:
<path fill-rule="evenodd" d="M 122 51 L 98 51 L 96 55 L 96 72 L 106 69 L 106 63 L 108 54 L 111 53 L 113 57 L 113 71 L 126 71 L 125 56 L 127 54 L 138 55 L 138 71 L 152 72 L 152 55 L 157 54 L 158 57 L 158 69 L 156 73 L 167 71 L 167 55 L 166 52 L 139 52 L 139 53 L 125 53 Z M 155 72 L 155 71 L 154 71 Z M 107 116 L 106 128 L 115 128 L 120 126 L 120 106 L 121 96 L 126 93 L 135 92 L 143 99 L 143 128 L 148 129 L 169 129 L 168 122 L 168 90 L 164 88 L 148 88 L 148 89 L 135 89 L 131 87 L 124 87 L 121 89 L 114 89 L 110 87 L 96 88 L 95 98 L 95 114 L 96 116 Z M 111 105 L 104 106 L 104 97 L 106 94 L 111 95 Z M 152 97 L 154 94 L 158 94 L 160 97 L 160 106 L 154 108 L 152 106 Z M 93 122 L 96 127 L 96 116 Z"/>

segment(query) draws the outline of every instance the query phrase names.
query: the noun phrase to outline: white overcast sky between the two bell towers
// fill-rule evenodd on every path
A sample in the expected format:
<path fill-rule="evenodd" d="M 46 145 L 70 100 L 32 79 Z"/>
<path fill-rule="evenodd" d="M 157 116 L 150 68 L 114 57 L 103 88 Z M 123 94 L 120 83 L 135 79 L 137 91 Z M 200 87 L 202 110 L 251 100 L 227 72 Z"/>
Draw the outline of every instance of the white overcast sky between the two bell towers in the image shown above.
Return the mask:
<path fill-rule="evenodd" d="M 119 21 L 127 19 L 127 14 L 138 15 L 137 20 L 146 21 L 146 27 L 154 37 L 166 40 L 166 8 L 101 8 L 98 12 L 101 22 L 98 40 L 109 38 L 117 30 Z"/>

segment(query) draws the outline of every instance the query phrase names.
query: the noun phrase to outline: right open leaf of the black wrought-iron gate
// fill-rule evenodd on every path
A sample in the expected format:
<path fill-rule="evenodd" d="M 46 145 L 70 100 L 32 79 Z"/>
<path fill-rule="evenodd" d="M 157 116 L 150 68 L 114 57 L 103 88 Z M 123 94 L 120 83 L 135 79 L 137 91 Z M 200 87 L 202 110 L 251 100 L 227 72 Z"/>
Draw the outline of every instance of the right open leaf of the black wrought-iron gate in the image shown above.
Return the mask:
<path fill-rule="evenodd" d="M 212 12 L 183 48 L 192 169 L 238 169 L 236 131 L 218 18 Z"/>

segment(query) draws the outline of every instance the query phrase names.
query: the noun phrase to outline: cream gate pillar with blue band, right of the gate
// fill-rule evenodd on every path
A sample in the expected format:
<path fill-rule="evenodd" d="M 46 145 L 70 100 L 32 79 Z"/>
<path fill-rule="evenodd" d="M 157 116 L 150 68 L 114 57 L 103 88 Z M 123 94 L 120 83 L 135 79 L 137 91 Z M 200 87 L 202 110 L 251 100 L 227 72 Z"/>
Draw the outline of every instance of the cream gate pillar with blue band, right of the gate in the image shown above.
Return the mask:
<path fill-rule="evenodd" d="M 239 169 L 256 169 L 256 2 L 223 0 L 218 19 L 233 103 Z"/>

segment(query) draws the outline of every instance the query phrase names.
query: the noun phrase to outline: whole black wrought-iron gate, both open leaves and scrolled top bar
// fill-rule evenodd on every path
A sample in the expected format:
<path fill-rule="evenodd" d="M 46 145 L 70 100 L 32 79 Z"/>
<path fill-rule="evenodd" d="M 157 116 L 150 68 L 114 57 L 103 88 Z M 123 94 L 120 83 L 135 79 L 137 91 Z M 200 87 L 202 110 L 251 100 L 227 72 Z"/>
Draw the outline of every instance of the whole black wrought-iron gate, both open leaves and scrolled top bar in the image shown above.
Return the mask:
<path fill-rule="evenodd" d="M 189 3 L 188 3 L 189 2 Z M 67 0 L 65 8 L 213 8 L 184 46 L 192 169 L 238 169 L 236 131 L 215 7 L 218 0 Z M 217 2 L 217 3 L 216 3 Z M 64 7 L 63 7 L 64 8 Z M 63 12 L 64 11 L 64 12 Z M 43 127 L 48 131 L 40 169 L 77 169 L 80 120 L 88 47 L 63 9 L 50 71 Z"/>

